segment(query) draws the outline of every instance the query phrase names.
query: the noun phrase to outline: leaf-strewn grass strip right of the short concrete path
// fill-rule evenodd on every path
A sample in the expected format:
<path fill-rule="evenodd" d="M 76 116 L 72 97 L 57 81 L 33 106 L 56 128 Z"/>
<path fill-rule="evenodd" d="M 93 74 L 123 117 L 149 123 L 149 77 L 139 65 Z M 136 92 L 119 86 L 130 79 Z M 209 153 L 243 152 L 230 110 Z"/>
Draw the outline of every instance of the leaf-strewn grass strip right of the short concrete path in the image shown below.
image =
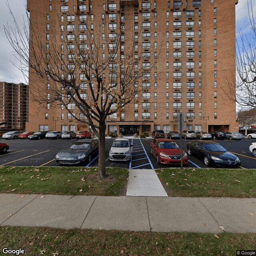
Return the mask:
<path fill-rule="evenodd" d="M 256 169 L 162 168 L 156 173 L 168 196 L 256 197 Z"/>

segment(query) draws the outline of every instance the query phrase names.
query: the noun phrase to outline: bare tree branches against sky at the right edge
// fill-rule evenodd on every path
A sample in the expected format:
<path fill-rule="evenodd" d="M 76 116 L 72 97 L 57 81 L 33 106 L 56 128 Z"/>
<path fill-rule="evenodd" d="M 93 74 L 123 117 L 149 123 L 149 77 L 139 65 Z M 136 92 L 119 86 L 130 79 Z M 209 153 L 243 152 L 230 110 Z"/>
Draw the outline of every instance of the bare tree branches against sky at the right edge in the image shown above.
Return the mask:
<path fill-rule="evenodd" d="M 242 30 L 239 32 L 236 48 L 236 92 L 231 91 L 232 99 L 245 108 L 256 107 L 256 20 L 253 11 L 252 0 L 248 0 L 251 33 L 247 36 Z"/>

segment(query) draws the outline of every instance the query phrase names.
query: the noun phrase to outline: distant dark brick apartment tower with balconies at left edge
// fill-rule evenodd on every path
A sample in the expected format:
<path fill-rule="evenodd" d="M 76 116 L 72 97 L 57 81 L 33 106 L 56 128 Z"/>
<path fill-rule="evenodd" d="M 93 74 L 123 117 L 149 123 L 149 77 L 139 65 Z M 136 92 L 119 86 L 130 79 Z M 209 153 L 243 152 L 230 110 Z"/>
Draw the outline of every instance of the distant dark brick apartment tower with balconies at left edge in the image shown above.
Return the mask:
<path fill-rule="evenodd" d="M 3 130 L 24 130 L 28 117 L 28 85 L 0 82 L 0 122 Z"/>

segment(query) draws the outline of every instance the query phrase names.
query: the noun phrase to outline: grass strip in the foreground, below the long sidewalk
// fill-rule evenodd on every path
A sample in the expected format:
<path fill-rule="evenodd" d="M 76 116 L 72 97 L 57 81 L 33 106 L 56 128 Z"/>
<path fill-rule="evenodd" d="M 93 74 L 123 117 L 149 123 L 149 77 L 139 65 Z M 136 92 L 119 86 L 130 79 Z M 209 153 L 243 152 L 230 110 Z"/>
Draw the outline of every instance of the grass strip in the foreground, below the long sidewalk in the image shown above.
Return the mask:
<path fill-rule="evenodd" d="M 256 248 L 256 234 L 154 233 L 55 228 L 0 228 L 2 248 L 29 256 L 234 256 Z M 42 252 L 42 253 L 41 253 Z M 8 254 L 9 255 L 9 254 Z M 22 254 L 23 255 L 23 254 Z"/>

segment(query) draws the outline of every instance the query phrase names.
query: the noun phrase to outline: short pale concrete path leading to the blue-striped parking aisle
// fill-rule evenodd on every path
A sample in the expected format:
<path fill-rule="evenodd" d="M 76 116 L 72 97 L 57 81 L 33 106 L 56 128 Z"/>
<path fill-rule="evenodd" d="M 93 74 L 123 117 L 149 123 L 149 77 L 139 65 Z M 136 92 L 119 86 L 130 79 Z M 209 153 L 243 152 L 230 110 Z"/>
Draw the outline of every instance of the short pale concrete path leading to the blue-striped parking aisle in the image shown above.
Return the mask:
<path fill-rule="evenodd" d="M 168 196 L 152 169 L 129 170 L 126 196 Z"/>

